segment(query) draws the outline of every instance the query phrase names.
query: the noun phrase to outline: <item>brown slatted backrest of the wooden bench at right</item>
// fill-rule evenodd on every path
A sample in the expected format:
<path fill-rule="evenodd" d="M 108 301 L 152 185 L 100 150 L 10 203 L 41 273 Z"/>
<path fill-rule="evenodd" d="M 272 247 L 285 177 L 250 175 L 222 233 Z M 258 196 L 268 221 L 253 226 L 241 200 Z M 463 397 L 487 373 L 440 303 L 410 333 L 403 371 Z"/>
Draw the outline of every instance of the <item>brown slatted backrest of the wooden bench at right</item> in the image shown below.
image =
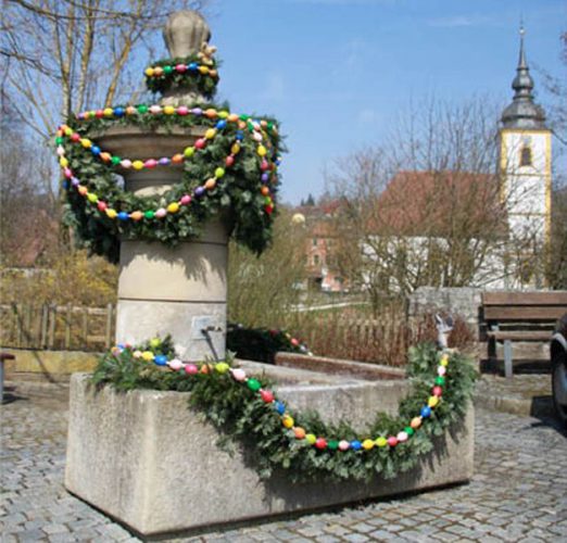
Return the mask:
<path fill-rule="evenodd" d="M 567 291 L 483 292 L 484 320 L 555 321 L 567 313 Z"/>

